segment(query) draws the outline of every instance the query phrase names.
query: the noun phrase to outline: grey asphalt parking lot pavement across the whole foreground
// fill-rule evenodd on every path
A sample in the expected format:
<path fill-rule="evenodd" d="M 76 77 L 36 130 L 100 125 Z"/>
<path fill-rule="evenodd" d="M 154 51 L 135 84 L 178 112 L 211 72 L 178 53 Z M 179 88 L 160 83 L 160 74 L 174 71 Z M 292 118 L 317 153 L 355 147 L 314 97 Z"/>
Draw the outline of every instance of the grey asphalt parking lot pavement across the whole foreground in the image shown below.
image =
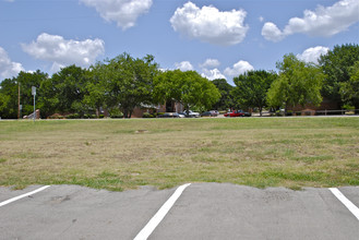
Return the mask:
<path fill-rule="evenodd" d="M 181 187 L 109 192 L 50 185 L 13 199 L 39 188 L 0 188 L 0 239 L 358 240 L 359 236 L 359 187 L 338 188 L 351 211 L 330 189 L 262 190 L 229 183 L 192 183 L 180 193 Z M 149 235 L 142 235 L 160 211 L 165 214 Z"/>

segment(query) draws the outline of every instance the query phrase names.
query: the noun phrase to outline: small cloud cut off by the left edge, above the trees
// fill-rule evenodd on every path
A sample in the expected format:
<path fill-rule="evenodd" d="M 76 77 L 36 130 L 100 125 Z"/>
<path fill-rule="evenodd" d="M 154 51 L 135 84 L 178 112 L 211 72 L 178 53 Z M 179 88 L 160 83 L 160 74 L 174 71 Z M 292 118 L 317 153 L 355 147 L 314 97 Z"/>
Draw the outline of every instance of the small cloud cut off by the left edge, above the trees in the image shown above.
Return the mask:
<path fill-rule="evenodd" d="M 16 76 L 21 71 L 24 71 L 22 64 L 12 62 L 8 52 L 0 47 L 0 79 Z"/>

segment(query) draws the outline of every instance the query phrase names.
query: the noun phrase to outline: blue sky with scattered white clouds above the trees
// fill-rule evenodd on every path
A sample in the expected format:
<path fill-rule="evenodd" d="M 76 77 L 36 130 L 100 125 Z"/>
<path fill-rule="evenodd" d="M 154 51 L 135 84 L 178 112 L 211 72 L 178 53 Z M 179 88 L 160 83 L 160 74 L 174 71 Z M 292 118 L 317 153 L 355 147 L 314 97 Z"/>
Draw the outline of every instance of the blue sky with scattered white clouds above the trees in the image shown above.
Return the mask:
<path fill-rule="evenodd" d="M 359 43 L 359 0 L 0 0 L 0 81 L 122 52 L 210 80 Z"/>

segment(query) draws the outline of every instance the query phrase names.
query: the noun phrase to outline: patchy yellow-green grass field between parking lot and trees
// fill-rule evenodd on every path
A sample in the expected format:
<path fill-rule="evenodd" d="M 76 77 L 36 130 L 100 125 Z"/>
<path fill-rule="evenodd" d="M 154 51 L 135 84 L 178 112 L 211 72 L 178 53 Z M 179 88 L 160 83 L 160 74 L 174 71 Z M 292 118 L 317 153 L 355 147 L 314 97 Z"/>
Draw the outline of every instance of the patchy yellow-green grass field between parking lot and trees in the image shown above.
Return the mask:
<path fill-rule="evenodd" d="M 359 118 L 0 121 L 0 185 L 359 185 Z"/>

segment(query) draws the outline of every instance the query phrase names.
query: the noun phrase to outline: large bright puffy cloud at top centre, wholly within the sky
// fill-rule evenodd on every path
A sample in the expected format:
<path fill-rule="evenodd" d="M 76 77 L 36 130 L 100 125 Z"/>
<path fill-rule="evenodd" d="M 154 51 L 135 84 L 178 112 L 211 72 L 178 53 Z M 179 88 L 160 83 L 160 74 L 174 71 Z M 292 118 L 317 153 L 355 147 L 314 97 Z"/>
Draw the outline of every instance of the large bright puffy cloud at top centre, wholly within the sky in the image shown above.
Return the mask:
<path fill-rule="evenodd" d="M 212 5 L 200 9 L 188 2 L 176 10 L 170 23 L 176 32 L 189 38 L 230 46 L 244 39 L 249 29 L 249 26 L 243 24 L 246 15 L 244 10 L 220 12 Z"/>

